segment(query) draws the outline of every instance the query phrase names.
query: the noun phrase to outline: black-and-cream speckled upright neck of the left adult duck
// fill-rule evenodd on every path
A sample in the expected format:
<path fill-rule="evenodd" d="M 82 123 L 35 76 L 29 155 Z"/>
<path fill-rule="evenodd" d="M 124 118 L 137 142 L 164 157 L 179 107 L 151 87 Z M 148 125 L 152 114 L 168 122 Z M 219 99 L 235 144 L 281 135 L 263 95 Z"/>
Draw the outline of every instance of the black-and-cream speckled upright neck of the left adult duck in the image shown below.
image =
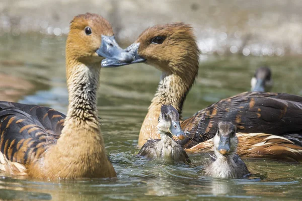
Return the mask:
<path fill-rule="evenodd" d="M 68 88 L 68 112 L 65 126 L 86 125 L 99 130 L 97 115 L 97 91 L 100 64 L 77 63 L 66 70 Z"/>

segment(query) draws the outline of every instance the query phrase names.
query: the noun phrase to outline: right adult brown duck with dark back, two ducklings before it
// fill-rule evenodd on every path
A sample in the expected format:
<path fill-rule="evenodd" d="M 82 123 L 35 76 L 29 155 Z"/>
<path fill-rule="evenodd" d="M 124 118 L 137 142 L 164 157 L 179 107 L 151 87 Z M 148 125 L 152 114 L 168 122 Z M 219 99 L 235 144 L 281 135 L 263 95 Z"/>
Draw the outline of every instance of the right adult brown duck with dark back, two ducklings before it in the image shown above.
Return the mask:
<path fill-rule="evenodd" d="M 202 143 L 213 138 L 219 121 L 232 122 L 238 132 L 251 134 L 251 143 L 262 143 L 266 149 L 265 155 L 272 152 L 269 146 L 266 147 L 266 141 L 261 141 L 263 138 L 258 139 L 255 133 L 270 134 L 271 138 L 276 136 L 277 139 L 279 136 L 291 138 L 291 134 L 301 135 L 302 97 L 287 93 L 243 92 L 221 99 L 183 120 L 183 104 L 198 74 L 200 55 L 193 28 L 188 24 L 171 23 L 147 28 L 125 51 L 133 55 L 132 62 L 104 59 L 102 67 L 143 62 L 162 71 L 157 91 L 139 132 L 138 147 L 148 138 L 160 137 L 157 132 L 157 120 L 162 105 L 172 105 L 179 112 L 181 128 L 186 138 L 178 143 L 185 149 L 197 144 L 202 146 Z M 249 150 L 245 149 L 245 152 Z M 279 150 L 276 154 L 280 156 L 281 152 L 282 150 Z M 241 154 L 244 153 L 239 152 L 239 155 Z"/>

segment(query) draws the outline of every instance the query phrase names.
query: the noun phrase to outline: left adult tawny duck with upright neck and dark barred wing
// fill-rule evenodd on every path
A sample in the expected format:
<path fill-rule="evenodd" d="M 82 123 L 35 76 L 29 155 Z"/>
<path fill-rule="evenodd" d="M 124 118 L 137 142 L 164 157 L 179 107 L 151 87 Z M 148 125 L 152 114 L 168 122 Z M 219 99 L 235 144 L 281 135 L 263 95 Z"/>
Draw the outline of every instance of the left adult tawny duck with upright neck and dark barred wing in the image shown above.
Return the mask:
<path fill-rule="evenodd" d="M 48 107 L 0 102 L 0 170 L 40 179 L 116 177 L 97 113 L 101 61 L 132 61 L 107 20 L 78 15 L 66 40 L 67 115 Z"/>

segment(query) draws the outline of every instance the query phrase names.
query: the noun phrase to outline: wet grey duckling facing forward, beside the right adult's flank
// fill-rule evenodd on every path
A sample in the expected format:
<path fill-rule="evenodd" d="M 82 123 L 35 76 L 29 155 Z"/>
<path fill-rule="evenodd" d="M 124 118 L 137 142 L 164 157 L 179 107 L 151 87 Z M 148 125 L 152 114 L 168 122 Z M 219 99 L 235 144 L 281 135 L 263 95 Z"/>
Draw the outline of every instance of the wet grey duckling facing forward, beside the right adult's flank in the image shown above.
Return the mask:
<path fill-rule="evenodd" d="M 250 173 L 246 164 L 236 154 L 238 138 L 236 126 L 231 122 L 219 122 L 213 138 L 215 160 L 205 168 L 205 175 L 216 178 L 242 178 Z"/>

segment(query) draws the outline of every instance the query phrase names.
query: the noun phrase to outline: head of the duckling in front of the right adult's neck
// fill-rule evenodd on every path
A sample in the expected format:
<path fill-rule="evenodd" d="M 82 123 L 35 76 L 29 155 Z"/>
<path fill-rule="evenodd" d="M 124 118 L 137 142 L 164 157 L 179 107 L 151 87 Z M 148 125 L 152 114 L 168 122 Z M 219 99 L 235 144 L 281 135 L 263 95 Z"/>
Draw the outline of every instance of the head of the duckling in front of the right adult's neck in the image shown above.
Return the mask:
<path fill-rule="evenodd" d="M 171 105 L 162 106 L 157 128 L 161 134 L 164 133 L 171 138 L 175 136 L 180 140 L 183 140 L 186 137 L 185 133 L 180 127 L 179 113 Z"/>

